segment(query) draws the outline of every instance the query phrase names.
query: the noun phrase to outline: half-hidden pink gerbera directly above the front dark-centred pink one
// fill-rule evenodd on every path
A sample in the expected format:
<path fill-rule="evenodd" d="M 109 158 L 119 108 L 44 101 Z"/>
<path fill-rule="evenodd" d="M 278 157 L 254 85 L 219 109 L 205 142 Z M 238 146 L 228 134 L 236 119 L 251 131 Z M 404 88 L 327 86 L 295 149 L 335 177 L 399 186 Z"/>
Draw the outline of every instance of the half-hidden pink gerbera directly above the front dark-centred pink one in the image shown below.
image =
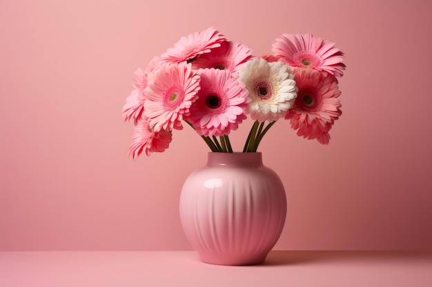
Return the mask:
<path fill-rule="evenodd" d="M 239 70 L 252 57 L 252 50 L 248 46 L 224 41 L 220 47 L 213 49 L 210 53 L 202 54 L 193 61 L 192 68 L 204 69 L 213 67 L 219 70 L 229 70 L 237 78 Z"/>

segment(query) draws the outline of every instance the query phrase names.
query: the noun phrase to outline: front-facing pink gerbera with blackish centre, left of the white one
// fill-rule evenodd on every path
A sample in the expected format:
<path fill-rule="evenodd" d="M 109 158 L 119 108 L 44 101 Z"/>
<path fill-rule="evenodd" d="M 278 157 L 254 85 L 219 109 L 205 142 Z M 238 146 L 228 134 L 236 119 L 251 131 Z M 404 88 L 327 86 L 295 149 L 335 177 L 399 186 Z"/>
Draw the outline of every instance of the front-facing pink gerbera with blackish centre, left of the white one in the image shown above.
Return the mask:
<path fill-rule="evenodd" d="M 230 134 L 246 119 L 248 91 L 228 70 L 204 69 L 199 75 L 201 89 L 185 119 L 200 136 Z"/>

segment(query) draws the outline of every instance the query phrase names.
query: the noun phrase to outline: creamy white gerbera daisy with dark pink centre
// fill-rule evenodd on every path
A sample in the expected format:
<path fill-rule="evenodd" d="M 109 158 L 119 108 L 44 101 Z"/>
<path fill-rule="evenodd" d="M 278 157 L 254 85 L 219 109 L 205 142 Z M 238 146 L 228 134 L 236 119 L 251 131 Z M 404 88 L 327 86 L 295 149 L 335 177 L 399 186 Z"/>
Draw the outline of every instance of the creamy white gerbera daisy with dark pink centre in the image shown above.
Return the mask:
<path fill-rule="evenodd" d="M 290 67 L 282 62 L 248 61 L 238 81 L 245 83 L 251 97 L 248 110 L 251 118 L 259 122 L 283 118 L 297 96 L 294 76 Z"/>

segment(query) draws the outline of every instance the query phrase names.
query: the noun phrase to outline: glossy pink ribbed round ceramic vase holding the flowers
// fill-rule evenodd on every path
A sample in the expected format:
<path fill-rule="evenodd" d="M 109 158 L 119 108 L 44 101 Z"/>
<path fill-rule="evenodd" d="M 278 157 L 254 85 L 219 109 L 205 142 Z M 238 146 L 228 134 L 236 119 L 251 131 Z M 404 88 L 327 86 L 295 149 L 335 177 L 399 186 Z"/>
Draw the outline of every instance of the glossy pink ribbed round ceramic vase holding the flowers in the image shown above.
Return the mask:
<path fill-rule="evenodd" d="M 264 262 L 284 228 L 286 194 L 262 153 L 208 153 L 180 196 L 184 233 L 203 262 Z"/>

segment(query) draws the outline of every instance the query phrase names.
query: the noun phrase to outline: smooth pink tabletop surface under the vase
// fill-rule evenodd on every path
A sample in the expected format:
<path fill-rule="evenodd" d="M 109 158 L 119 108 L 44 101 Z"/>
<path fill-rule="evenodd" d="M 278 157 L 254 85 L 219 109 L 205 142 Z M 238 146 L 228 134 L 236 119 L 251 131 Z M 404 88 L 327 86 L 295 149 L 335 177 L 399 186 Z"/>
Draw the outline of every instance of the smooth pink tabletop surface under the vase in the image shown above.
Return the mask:
<path fill-rule="evenodd" d="M 194 251 L 0 252 L 1 287 L 432 286 L 432 252 L 272 251 L 258 266 Z"/>

